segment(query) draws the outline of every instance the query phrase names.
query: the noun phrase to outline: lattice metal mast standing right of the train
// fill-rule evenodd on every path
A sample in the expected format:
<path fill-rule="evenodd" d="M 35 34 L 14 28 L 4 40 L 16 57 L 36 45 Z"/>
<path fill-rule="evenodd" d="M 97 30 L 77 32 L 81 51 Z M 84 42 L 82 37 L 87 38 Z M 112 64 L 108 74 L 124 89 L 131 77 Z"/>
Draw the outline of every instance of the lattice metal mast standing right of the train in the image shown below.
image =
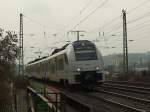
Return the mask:
<path fill-rule="evenodd" d="M 123 69 L 124 73 L 128 73 L 128 41 L 127 41 L 127 23 L 126 23 L 126 11 L 123 13 Z"/>

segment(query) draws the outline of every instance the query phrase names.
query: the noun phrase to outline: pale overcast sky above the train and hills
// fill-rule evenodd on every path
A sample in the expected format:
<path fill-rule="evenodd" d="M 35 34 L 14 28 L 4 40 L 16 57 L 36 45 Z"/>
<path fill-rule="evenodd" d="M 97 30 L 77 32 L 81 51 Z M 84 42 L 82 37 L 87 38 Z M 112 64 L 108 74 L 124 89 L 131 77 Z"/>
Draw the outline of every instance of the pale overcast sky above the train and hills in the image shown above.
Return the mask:
<path fill-rule="evenodd" d="M 103 55 L 122 53 L 122 9 L 129 53 L 150 51 L 150 0 L 0 0 L 0 27 L 18 33 L 23 13 L 26 62 L 76 40 L 71 30 L 86 31 L 81 39 L 96 41 Z"/>

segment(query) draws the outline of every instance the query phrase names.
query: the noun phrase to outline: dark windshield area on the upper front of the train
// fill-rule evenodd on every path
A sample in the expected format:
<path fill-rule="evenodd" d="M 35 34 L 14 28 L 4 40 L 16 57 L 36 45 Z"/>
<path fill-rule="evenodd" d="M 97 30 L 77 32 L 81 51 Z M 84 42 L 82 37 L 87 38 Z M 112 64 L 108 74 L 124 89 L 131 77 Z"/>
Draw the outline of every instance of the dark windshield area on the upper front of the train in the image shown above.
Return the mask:
<path fill-rule="evenodd" d="M 76 42 L 74 43 L 75 57 L 77 61 L 96 60 L 95 45 L 91 42 Z"/>

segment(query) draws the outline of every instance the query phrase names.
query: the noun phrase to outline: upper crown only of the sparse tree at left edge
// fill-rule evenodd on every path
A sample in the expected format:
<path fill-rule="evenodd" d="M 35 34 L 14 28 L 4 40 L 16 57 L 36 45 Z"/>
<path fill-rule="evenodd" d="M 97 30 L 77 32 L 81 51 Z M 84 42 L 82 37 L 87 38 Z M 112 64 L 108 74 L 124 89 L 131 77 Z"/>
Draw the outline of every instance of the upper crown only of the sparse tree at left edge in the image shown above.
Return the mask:
<path fill-rule="evenodd" d="M 0 29 L 0 59 L 15 62 L 18 54 L 17 35 L 15 32 L 10 32 Z"/>

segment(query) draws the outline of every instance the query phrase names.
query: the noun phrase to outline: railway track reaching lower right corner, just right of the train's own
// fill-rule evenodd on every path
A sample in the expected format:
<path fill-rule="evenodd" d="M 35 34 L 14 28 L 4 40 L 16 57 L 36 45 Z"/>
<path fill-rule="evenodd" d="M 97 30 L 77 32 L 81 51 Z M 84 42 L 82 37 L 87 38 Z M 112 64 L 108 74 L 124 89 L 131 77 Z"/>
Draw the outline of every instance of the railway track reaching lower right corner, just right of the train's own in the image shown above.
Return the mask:
<path fill-rule="evenodd" d="M 145 100 L 137 97 L 131 97 L 124 94 L 119 94 L 115 92 L 109 92 L 104 90 L 99 90 L 99 93 L 94 93 L 98 97 L 110 100 L 112 102 L 117 102 L 122 105 L 126 105 L 131 108 L 135 108 L 142 111 L 150 110 L 150 100 Z"/>

